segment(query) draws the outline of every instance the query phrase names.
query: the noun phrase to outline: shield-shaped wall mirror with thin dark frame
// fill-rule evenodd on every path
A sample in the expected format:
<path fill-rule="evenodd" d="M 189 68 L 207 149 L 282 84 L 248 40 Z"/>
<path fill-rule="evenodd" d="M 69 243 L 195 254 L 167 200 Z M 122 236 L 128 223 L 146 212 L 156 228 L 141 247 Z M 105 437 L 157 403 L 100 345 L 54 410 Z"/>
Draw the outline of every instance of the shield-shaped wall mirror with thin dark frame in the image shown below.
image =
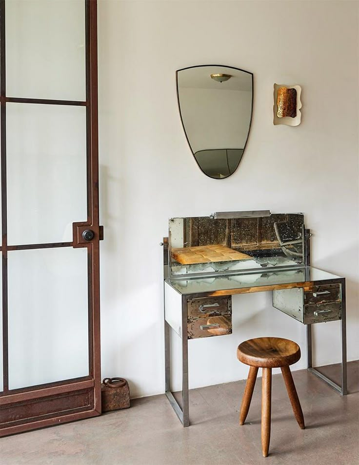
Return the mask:
<path fill-rule="evenodd" d="M 176 78 L 183 129 L 199 168 L 210 178 L 228 178 L 248 140 L 253 73 L 200 65 L 179 69 Z"/>

